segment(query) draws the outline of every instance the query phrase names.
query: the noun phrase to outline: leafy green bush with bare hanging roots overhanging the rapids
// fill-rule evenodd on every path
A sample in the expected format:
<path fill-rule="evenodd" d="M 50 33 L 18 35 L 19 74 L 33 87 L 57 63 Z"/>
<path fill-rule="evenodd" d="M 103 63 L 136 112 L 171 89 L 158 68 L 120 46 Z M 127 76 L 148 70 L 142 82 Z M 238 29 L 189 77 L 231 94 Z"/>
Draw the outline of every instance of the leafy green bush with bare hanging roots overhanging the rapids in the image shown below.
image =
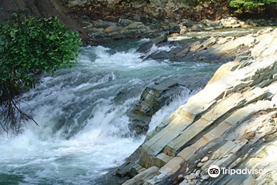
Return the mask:
<path fill-rule="evenodd" d="M 35 88 L 32 73 L 51 72 L 77 62 L 81 39 L 56 17 L 23 18 L 0 24 L 0 124 L 7 132 L 18 125 L 18 115 L 32 119 L 19 108 L 22 88 Z M 34 120 L 33 120 L 34 121 Z"/>

